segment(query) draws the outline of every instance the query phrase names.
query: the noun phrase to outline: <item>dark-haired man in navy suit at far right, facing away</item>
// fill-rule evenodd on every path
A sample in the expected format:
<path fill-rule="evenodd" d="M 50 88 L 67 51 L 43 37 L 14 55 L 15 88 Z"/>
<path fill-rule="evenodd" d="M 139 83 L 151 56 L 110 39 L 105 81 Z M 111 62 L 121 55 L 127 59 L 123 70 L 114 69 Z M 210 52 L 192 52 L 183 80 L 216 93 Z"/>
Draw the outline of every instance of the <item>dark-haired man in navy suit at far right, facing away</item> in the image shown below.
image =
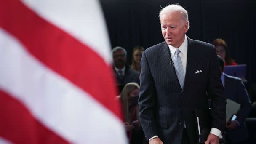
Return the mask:
<path fill-rule="evenodd" d="M 222 72 L 221 80 L 224 86 L 225 97 L 240 104 L 240 111 L 237 112 L 237 118 L 234 121 L 228 121 L 227 141 L 228 144 L 247 144 L 246 139 L 249 134 L 245 125 L 245 119 L 251 110 L 251 101 L 243 82 L 238 77 L 226 75 L 224 70 L 224 60 L 218 56 L 220 69 Z"/>

